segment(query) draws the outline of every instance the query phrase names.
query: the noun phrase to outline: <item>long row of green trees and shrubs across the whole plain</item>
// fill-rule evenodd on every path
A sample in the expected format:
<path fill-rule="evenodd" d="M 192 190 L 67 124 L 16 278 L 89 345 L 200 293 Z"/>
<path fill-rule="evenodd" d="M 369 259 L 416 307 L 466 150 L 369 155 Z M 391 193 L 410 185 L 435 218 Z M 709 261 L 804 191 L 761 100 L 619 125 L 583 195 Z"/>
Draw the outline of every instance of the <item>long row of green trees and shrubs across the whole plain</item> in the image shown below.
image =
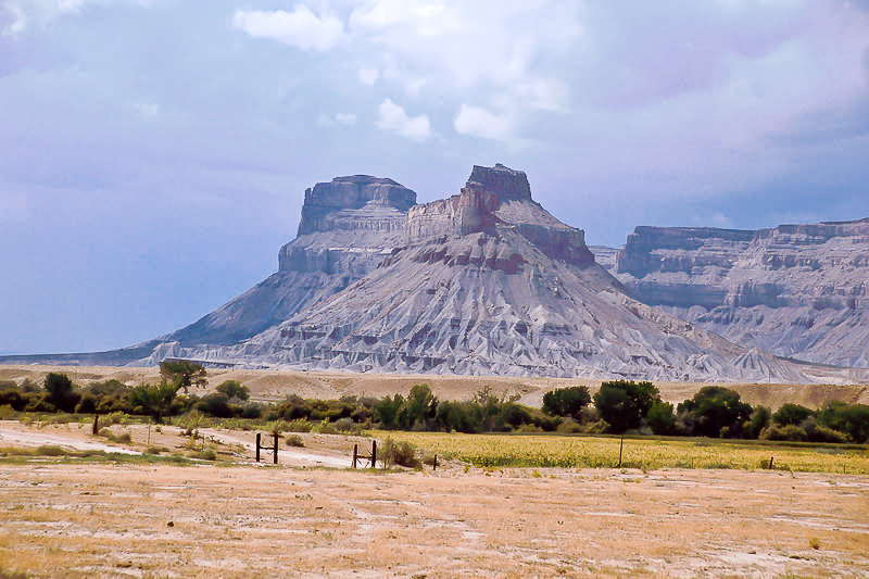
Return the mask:
<path fill-rule="evenodd" d="M 278 429 L 291 432 L 360 435 L 364 430 L 442 432 L 559 432 L 563 435 L 631 433 L 782 442 L 864 443 L 869 439 L 869 406 L 828 402 L 814 411 L 784 404 L 774 414 L 752 407 L 735 391 L 711 386 L 673 407 L 660 400 L 651 382 L 606 381 L 594 397 L 585 387 L 546 392 L 543 408 L 519 404 L 518 397 L 495 395 L 480 388 L 467 401 L 439 400 L 427 385 L 410 393 L 342 397 L 339 400 L 289 395 L 277 404 L 250 401 L 250 390 L 238 380 L 225 380 L 217 391 L 199 397 L 182 394 L 182 383 L 199 383 L 198 365 L 171 363 L 164 376 L 175 381 L 128 387 L 118 380 L 76 386 L 62 374 L 50 374 L 45 388 L 33 382 L 0 381 L 0 417 L 22 420 L 79 420 L 67 414 L 41 417 L 75 407 L 88 415 L 101 414 L 100 426 L 126 424 L 130 415 L 150 416 L 158 424 L 182 415 L 181 424 L 197 417 L 200 424 L 221 420 L 237 429 Z M 593 405 L 590 405 L 593 401 Z M 23 413 L 23 415 L 22 415 Z M 36 417 L 38 416 L 38 417 Z M 90 418 L 86 418 L 89 420 Z"/>

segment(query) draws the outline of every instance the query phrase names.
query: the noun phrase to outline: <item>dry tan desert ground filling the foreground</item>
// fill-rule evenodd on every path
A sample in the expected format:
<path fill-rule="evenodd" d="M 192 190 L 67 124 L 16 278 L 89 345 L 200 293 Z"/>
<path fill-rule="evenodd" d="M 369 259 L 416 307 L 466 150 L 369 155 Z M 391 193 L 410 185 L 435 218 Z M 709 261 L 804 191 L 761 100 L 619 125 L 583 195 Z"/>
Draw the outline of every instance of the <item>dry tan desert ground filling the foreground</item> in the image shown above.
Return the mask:
<path fill-rule="evenodd" d="M 0 423 L 0 446 L 187 449 L 178 427 Z M 0 577 L 869 575 L 869 477 L 692 469 L 351 470 L 368 439 L 203 429 L 222 466 L 0 461 Z M 266 456 L 270 461 L 270 456 Z"/>

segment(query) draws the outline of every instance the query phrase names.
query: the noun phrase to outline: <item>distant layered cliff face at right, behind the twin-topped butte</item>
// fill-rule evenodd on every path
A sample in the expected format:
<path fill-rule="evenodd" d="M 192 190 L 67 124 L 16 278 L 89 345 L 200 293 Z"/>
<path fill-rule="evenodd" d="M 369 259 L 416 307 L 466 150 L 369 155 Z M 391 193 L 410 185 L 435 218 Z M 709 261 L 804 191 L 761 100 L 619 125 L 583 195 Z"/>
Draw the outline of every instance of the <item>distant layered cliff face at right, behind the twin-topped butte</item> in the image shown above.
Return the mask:
<path fill-rule="evenodd" d="M 643 302 L 742 345 L 869 367 L 869 219 L 638 227 L 613 273 Z"/>

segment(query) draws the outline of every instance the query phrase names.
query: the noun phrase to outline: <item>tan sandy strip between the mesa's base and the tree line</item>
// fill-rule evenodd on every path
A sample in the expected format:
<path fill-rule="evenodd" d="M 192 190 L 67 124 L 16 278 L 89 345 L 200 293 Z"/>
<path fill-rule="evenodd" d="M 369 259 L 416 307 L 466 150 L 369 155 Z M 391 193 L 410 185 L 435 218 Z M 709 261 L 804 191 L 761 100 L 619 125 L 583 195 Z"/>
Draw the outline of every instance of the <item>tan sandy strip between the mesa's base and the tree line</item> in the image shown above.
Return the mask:
<path fill-rule="evenodd" d="M 131 386 L 156 382 L 158 368 L 109 367 L 109 366 L 37 366 L 0 365 L 0 380 L 23 381 L 30 378 L 41 383 L 49 372 L 61 372 L 79 385 L 92 381 L 117 379 Z M 498 394 L 518 394 L 520 402 L 540 407 L 543 394 L 554 388 L 584 385 L 594 392 L 600 380 L 567 378 L 505 378 L 498 376 L 420 376 L 391 374 L 338 374 L 305 373 L 290 370 L 209 370 L 210 388 L 224 380 L 235 379 L 251 389 L 252 395 L 261 401 L 279 401 L 289 394 L 302 398 L 338 399 L 343 394 L 383 397 L 396 392 L 407 393 L 417 383 L 427 383 L 432 391 L 445 400 L 465 400 L 484 386 Z M 696 382 L 655 382 L 662 398 L 668 402 L 681 402 L 694 395 L 706 385 Z M 818 407 L 827 400 L 847 403 L 869 404 L 868 386 L 830 385 L 766 385 L 728 383 L 742 399 L 751 404 L 764 404 L 777 408 L 785 402 L 794 402 L 809 407 Z"/>

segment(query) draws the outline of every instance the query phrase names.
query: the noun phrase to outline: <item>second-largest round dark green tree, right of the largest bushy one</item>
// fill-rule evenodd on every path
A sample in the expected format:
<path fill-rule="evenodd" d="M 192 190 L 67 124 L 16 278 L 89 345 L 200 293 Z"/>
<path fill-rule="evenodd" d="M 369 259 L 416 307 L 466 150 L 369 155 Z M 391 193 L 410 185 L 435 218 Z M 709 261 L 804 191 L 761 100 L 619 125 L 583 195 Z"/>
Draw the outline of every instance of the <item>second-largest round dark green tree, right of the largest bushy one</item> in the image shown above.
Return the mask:
<path fill-rule="evenodd" d="M 721 386 L 706 386 L 694 398 L 679 404 L 679 413 L 694 416 L 692 435 L 736 438 L 752 417 L 752 405 L 739 392 Z"/>

